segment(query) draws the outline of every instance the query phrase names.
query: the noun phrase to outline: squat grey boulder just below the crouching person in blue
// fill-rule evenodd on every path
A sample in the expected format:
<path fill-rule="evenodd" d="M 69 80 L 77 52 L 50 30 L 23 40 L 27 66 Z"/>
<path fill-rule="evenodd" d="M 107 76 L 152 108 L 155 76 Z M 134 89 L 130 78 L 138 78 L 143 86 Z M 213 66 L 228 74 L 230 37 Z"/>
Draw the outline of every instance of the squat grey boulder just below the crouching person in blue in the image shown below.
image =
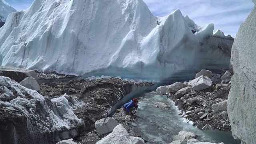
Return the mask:
<path fill-rule="evenodd" d="M 95 122 L 95 129 L 99 134 L 107 134 L 118 125 L 113 118 L 102 118 Z"/>

